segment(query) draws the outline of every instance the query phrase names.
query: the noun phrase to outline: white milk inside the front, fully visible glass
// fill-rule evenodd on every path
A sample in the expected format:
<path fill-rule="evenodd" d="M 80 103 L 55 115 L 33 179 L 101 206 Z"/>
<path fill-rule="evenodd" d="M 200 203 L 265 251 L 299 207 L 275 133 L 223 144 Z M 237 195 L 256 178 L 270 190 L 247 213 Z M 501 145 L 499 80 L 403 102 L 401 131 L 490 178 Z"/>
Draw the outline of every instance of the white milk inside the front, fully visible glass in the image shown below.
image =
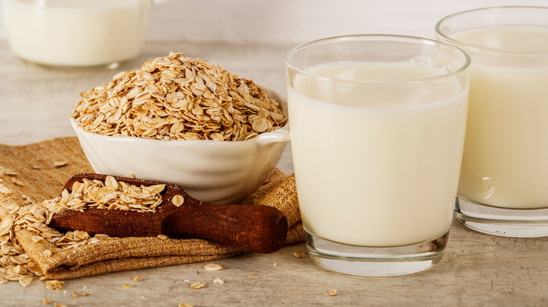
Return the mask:
<path fill-rule="evenodd" d="M 313 70 L 363 81 L 445 74 L 410 63 L 339 63 Z M 295 89 L 288 88 L 289 121 L 306 229 L 371 247 L 419 243 L 447 231 L 462 160 L 467 89 L 456 79 L 440 82 L 431 95 L 417 87 L 370 90 L 346 83 L 347 94 L 334 95 L 329 86 L 296 78 Z"/>

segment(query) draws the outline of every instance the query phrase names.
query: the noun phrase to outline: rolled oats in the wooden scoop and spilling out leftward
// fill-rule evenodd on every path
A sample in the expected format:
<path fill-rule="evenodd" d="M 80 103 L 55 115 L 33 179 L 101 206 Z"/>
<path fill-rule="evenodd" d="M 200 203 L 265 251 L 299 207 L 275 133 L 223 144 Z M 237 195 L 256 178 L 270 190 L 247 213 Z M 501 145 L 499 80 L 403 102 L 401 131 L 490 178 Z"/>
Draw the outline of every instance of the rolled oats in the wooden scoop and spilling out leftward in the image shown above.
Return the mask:
<path fill-rule="evenodd" d="M 0 168 L 0 175 L 15 176 L 16 172 Z M 124 182 L 117 182 L 114 177 L 107 177 L 105 182 L 87 180 L 76 182 L 72 186 L 72 193 L 65 190 L 58 198 L 34 203 L 30 198 L 22 196 L 25 202 L 22 205 L 8 205 L 8 215 L 0 221 L 0 284 L 18 281 L 26 287 L 30 285 L 34 275 L 44 275 L 38 264 L 32 261 L 14 239 L 17 228 L 26 228 L 36 233 L 32 236 L 34 242 L 47 240 L 53 243 L 54 248 L 66 249 L 80 247 L 109 240 L 106 235 L 89 236 L 85 231 L 68 231 L 60 233 L 48 227 L 53 214 L 67 210 L 84 210 L 97 208 L 105 210 L 136 210 L 140 212 L 154 212 L 162 202 L 163 184 L 155 186 L 135 186 Z M 167 238 L 167 237 L 166 237 Z M 52 257 L 54 250 L 44 250 L 45 257 Z M 49 280 L 48 289 L 62 289 L 63 282 Z"/>

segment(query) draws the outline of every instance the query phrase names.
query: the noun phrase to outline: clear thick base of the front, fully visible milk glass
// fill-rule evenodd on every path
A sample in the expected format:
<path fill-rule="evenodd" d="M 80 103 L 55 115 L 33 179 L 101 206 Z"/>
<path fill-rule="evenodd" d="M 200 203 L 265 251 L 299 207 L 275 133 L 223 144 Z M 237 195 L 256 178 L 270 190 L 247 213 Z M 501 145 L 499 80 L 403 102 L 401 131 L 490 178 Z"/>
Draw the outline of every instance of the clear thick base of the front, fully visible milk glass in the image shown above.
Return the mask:
<path fill-rule="evenodd" d="M 437 264 L 449 230 L 439 238 L 400 247 L 361 247 L 336 243 L 306 231 L 306 247 L 320 266 L 340 273 L 370 277 L 406 275 Z"/>

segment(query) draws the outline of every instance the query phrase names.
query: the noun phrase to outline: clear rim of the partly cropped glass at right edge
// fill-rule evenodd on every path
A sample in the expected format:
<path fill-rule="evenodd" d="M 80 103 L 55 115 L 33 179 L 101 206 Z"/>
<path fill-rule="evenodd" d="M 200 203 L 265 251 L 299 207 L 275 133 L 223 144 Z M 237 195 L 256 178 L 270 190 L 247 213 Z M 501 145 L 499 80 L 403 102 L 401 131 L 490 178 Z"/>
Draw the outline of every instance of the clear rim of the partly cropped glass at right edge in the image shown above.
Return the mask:
<path fill-rule="evenodd" d="M 548 50 L 539 50 L 539 51 L 524 51 L 524 50 L 504 50 L 500 48 L 490 48 L 485 47 L 481 45 L 475 45 L 473 43 L 464 43 L 462 41 L 458 41 L 457 39 L 453 39 L 448 34 L 443 33 L 441 31 L 441 26 L 443 22 L 446 22 L 450 20 L 451 18 L 455 18 L 460 15 L 465 15 L 468 13 L 474 13 L 479 11 L 490 11 L 495 9 L 502 9 L 502 10 L 511 10 L 511 9 L 535 9 L 535 10 L 547 10 L 548 13 L 548 6 L 488 6 L 485 8 L 473 8 L 471 10 L 465 10 L 465 11 L 459 11 L 456 13 L 452 13 L 450 15 L 445 16 L 444 18 L 441 18 L 436 23 L 436 27 L 434 27 L 434 30 L 436 31 L 436 34 L 441 36 L 441 39 L 444 41 L 447 41 L 450 44 L 455 44 L 457 46 L 462 46 L 462 48 L 465 48 L 467 50 L 472 50 L 477 53 L 490 53 L 494 55 L 548 55 Z"/>

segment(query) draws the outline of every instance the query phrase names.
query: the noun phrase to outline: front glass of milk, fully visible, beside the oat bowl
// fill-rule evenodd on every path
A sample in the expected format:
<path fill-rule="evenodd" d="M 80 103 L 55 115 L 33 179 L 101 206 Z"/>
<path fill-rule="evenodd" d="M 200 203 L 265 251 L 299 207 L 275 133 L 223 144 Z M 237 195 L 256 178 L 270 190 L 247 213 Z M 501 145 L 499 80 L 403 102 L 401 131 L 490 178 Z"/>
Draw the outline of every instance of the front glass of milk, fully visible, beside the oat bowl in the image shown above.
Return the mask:
<path fill-rule="evenodd" d="M 311 257 L 367 276 L 440 261 L 462 161 L 468 55 L 429 39 L 356 35 L 296 46 L 286 63 Z"/>

